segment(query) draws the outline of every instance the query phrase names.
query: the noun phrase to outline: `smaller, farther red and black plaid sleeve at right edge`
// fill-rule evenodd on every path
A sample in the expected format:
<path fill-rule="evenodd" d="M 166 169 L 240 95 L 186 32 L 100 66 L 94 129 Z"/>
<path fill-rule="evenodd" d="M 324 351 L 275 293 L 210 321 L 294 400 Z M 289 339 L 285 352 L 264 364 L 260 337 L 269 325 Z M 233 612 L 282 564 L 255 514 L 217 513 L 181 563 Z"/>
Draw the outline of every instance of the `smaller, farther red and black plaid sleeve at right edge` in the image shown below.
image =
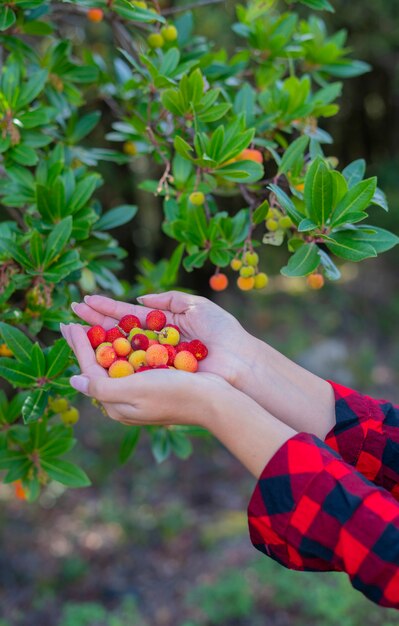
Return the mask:
<path fill-rule="evenodd" d="M 336 424 L 325 442 L 399 500 L 399 407 L 332 381 Z"/>

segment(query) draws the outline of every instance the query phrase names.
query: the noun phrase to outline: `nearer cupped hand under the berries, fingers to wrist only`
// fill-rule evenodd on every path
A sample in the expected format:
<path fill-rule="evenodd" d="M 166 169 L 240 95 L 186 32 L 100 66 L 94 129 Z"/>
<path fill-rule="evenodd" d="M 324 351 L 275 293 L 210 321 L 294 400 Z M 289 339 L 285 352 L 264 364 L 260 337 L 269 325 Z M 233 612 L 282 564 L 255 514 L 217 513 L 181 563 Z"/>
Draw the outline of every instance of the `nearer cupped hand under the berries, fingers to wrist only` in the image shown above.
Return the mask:
<path fill-rule="evenodd" d="M 178 370 L 149 370 L 109 378 L 80 324 L 64 325 L 62 333 L 78 359 L 81 375 L 71 384 L 99 400 L 108 415 L 127 425 L 190 424 L 208 427 L 212 407 L 229 390 L 220 377 Z"/>

